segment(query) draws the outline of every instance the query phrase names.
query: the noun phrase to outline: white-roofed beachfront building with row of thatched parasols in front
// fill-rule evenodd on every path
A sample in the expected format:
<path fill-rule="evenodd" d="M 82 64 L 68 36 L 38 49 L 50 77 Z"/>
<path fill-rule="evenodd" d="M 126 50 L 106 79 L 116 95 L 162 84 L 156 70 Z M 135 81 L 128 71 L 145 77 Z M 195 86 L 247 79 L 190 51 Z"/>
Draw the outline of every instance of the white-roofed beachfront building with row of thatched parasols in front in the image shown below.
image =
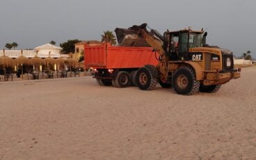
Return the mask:
<path fill-rule="evenodd" d="M 2 59 L 0 74 L 6 72 L 17 72 L 18 74 L 36 71 L 49 72 L 71 68 L 71 65 L 76 62 L 71 60 L 70 55 L 61 54 L 61 50 L 61 47 L 49 43 L 35 47 L 33 50 L 0 50 Z"/>

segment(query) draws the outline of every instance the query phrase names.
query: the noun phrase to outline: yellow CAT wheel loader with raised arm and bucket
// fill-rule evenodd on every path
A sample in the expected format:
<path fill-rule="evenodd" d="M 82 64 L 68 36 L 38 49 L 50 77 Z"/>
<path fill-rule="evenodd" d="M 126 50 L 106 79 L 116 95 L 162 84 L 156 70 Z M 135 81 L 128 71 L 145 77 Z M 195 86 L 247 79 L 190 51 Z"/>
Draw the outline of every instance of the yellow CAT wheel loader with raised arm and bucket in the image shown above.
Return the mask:
<path fill-rule="evenodd" d="M 172 87 L 181 95 L 198 91 L 216 93 L 222 84 L 240 77 L 241 68 L 234 69 L 232 51 L 207 45 L 207 32 L 203 29 L 166 31 L 161 35 L 141 24 L 124 31 L 136 35 L 134 40 L 131 36 L 127 38 L 129 46 L 136 46 L 136 40 L 142 39 L 159 54 L 157 66 L 145 65 L 136 72 L 136 83 L 141 90 L 153 90 L 159 82 L 163 88 Z M 117 36 L 118 41 L 122 40 L 120 45 L 125 45 L 124 36 Z"/>

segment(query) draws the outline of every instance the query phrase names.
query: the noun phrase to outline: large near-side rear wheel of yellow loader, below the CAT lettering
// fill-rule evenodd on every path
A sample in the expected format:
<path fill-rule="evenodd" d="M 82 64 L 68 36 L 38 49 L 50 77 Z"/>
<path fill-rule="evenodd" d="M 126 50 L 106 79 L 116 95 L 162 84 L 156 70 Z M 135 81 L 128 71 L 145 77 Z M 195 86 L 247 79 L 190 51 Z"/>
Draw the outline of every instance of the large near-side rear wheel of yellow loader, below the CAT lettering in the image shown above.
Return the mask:
<path fill-rule="evenodd" d="M 191 67 L 179 67 L 173 74 L 172 86 L 178 94 L 193 95 L 200 87 L 200 81 L 195 80 L 195 72 Z"/>

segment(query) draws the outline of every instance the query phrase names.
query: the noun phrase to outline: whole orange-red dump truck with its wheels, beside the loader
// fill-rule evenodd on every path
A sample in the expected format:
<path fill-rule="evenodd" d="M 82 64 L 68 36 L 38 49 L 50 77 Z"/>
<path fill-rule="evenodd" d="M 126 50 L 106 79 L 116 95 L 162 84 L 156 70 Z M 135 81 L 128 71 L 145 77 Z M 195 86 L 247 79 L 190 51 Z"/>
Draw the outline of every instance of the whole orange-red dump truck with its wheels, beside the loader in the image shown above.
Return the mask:
<path fill-rule="evenodd" d="M 137 86 L 138 68 L 145 65 L 157 66 L 159 56 L 152 51 L 152 47 L 112 46 L 108 42 L 85 45 L 84 53 L 84 65 L 93 68 L 97 83 L 118 88 Z"/>

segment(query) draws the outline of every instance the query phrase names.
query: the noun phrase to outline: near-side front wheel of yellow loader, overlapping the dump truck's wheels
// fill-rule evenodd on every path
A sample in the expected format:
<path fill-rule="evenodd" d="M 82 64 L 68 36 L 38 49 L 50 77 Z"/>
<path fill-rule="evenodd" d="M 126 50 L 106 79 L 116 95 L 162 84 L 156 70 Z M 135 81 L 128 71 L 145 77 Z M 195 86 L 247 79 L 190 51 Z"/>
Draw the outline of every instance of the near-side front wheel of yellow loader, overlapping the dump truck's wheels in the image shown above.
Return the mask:
<path fill-rule="evenodd" d="M 156 77 L 157 75 L 154 75 L 150 67 L 141 67 L 136 74 L 138 88 L 141 90 L 154 90 L 158 81 Z"/>

